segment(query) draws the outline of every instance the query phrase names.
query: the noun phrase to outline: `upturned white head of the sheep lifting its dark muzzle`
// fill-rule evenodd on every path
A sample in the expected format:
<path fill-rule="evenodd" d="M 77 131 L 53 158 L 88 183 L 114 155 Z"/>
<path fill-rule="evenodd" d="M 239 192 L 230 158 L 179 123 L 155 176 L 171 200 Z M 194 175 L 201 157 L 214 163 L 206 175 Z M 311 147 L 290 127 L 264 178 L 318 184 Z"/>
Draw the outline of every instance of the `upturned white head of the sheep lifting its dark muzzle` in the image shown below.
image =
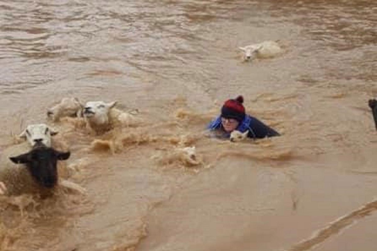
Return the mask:
<path fill-rule="evenodd" d="M 115 105 L 116 101 L 110 103 L 90 101 L 85 104 L 83 115 L 94 124 L 104 125 L 109 122 L 109 111 Z"/>

